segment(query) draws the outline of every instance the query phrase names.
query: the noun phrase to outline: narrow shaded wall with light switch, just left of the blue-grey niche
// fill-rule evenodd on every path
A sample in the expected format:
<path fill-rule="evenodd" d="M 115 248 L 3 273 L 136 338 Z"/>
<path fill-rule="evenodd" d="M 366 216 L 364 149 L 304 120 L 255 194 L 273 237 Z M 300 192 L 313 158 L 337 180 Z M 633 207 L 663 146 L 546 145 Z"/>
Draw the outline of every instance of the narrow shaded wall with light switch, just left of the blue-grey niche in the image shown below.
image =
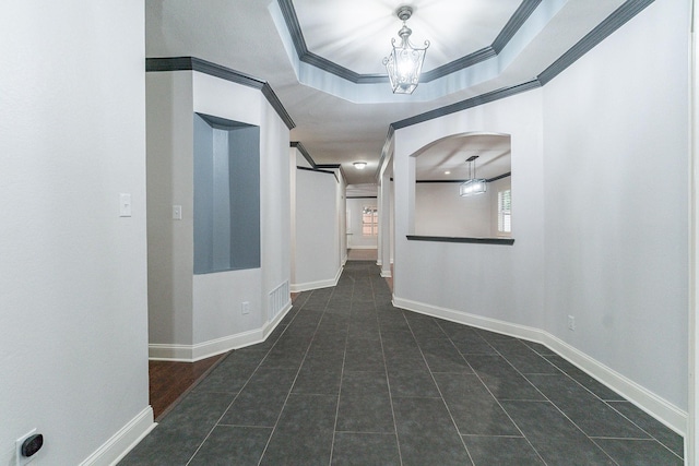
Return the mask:
<path fill-rule="evenodd" d="M 192 345 L 192 73 L 146 73 L 145 83 L 149 342 Z M 181 220 L 173 220 L 173 205 L 181 205 Z"/>

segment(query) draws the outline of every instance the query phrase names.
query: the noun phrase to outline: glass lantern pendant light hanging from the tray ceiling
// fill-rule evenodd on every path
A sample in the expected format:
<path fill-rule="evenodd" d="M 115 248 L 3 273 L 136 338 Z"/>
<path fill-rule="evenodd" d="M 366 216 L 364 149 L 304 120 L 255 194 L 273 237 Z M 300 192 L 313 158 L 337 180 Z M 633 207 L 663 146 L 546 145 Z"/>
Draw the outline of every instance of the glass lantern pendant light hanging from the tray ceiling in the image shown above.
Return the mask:
<path fill-rule="evenodd" d="M 429 47 L 429 40 L 425 40 L 425 48 L 413 47 L 408 40 L 413 32 L 405 25 L 405 22 L 413 14 L 413 9 L 411 7 L 401 7 L 396 14 L 403 22 L 403 27 L 398 32 L 401 37 L 401 44 L 396 47 L 395 37 L 391 39 L 393 50 L 391 50 L 391 55 L 383 59 L 383 64 L 389 72 L 393 94 L 413 94 L 419 81 L 419 73 L 423 70 L 423 61 L 425 60 L 425 51 Z"/>

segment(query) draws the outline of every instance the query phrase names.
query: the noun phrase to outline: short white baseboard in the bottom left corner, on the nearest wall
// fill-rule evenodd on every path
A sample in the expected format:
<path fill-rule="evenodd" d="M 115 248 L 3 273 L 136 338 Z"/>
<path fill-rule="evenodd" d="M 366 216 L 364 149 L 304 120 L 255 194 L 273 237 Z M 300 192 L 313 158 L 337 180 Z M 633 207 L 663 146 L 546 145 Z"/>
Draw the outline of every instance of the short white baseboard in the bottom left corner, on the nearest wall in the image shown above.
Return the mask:
<path fill-rule="evenodd" d="M 95 450 L 92 455 L 87 456 L 80 466 L 116 465 L 138 445 L 155 426 L 157 426 L 157 423 L 153 422 L 153 408 L 149 406 L 119 429 L 117 433 L 111 435 L 111 438 Z"/>

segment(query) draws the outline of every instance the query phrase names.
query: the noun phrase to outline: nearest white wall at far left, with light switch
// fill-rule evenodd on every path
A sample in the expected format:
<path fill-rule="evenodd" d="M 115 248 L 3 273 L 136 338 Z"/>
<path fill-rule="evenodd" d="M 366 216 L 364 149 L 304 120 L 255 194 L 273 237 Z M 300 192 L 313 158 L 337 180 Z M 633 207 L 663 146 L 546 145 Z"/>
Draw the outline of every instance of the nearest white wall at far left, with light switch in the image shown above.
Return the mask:
<path fill-rule="evenodd" d="M 143 2 L 2 10 L 0 464 L 108 464 L 153 422 Z"/>

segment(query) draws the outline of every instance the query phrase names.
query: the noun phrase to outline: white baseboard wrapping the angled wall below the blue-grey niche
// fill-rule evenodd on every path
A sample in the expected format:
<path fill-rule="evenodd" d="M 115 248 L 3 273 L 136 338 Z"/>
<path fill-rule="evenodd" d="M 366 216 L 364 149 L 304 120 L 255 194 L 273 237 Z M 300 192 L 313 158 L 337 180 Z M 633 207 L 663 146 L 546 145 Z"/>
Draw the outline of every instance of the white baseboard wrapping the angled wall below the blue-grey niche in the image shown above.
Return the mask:
<path fill-rule="evenodd" d="M 230 351 L 232 349 L 244 348 L 250 345 L 257 345 L 266 339 L 272 331 L 284 319 L 286 313 L 292 309 L 292 300 L 276 314 L 276 316 L 268 322 L 263 327 L 248 332 L 238 333 L 236 335 L 224 336 L 222 338 L 210 339 L 209 342 L 198 343 L 196 345 L 164 345 L 150 344 L 149 359 L 152 361 L 179 361 L 196 362 L 212 356 Z"/>

